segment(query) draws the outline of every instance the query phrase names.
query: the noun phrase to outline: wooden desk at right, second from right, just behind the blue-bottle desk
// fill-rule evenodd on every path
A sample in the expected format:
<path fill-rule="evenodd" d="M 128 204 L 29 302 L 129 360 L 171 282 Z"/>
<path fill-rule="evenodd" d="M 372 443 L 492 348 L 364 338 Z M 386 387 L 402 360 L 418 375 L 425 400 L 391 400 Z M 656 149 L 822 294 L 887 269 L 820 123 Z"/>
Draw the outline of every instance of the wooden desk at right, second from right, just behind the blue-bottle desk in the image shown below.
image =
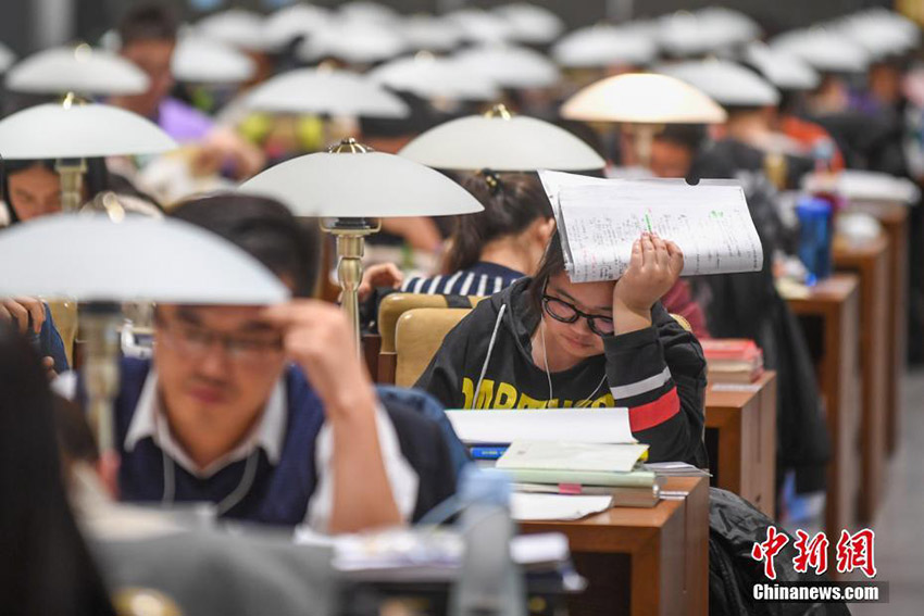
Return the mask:
<path fill-rule="evenodd" d="M 860 452 L 861 481 L 858 518 L 871 523 L 885 493 L 888 430 L 889 240 L 882 235 L 863 246 L 835 241 L 834 265 L 860 277 L 860 367 L 863 381 Z"/>

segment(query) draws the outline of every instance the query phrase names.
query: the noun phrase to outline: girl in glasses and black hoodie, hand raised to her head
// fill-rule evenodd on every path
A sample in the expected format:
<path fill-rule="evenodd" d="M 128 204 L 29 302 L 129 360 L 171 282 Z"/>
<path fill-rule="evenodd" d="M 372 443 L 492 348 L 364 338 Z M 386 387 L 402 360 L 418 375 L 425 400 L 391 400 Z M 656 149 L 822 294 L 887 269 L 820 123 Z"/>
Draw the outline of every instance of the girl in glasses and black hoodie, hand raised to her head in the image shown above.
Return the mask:
<path fill-rule="evenodd" d="M 620 280 L 574 284 L 554 234 L 536 276 L 475 306 L 416 387 L 448 408 L 627 407 L 653 462 L 704 466 L 702 349 L 659 302 L 683 265 L 646 232 Z"/>

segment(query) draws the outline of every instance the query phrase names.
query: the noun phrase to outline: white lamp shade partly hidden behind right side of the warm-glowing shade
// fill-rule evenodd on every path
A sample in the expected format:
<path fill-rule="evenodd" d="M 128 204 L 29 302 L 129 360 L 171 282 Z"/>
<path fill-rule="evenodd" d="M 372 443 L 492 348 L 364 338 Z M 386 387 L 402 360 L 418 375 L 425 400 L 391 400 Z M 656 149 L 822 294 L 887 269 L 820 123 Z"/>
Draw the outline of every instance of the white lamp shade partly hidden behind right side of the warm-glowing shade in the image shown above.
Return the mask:
<path fill-rule="evenodd" d="M 679 62 L 655 68 L 701 90 L 723 106 L 776 106 L 779 91 L 760 75 L 726 60 Z"/>

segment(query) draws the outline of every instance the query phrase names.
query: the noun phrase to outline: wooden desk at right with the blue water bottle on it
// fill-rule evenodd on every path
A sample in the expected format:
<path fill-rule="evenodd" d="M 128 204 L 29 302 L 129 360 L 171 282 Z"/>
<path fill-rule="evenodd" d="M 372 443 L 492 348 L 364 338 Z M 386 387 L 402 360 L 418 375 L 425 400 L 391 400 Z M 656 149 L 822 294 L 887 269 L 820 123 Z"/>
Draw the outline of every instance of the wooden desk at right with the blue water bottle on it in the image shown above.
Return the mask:
<path fill-rule="evenodd" d="M 825 531 L 840 537 L 856 523 L 857 481 L 860 477 L 857 437 L 860 402 L 860 281 L 852 274 L 835 274 L 806 298 L 788 299 L 799 316 L 815 362 L 825 400 L 832 441 L 827 469 Z"/>

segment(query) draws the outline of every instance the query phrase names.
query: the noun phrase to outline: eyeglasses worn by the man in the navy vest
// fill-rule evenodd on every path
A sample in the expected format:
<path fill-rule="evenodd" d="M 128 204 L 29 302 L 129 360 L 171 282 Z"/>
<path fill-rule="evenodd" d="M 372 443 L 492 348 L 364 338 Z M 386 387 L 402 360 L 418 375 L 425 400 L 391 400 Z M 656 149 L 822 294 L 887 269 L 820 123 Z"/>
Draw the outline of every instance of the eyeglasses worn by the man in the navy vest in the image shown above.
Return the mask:
<path fill-rule="evenodd" d="M 202 357 L 217 342 L 228 359 L 241 365 L 260 364 L 283 351 L 282 336 L 233 336 L 183 320 L 158 319 L 166 341 L 186 357 Z"/>

